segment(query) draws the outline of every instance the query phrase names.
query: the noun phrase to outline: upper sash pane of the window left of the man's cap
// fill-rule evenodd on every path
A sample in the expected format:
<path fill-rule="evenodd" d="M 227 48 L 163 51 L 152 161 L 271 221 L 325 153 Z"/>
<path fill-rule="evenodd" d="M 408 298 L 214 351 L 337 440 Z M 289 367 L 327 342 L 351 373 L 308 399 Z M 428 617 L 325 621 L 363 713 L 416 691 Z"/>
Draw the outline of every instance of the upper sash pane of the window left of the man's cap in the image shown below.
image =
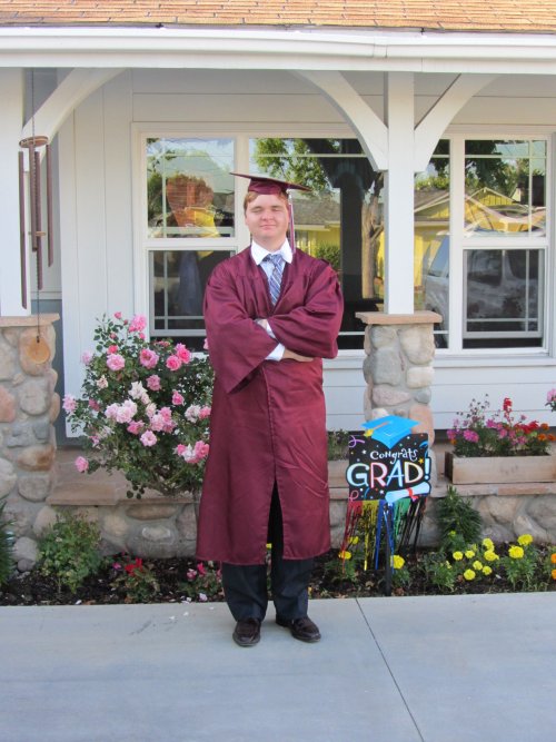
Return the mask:
<path fill-rule="evenodd" d="M 232 169 L 231 139 L 147 139 L 147 236 L 232 236 Z"/>

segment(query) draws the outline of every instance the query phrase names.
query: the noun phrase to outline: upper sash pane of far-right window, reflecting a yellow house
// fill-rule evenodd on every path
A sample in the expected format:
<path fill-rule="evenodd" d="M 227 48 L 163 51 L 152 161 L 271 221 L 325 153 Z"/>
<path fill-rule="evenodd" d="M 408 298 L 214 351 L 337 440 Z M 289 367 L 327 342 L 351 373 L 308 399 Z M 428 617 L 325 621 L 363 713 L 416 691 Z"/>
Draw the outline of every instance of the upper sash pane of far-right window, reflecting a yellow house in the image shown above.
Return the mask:
<path fill-rule="evenodd" d="M 545 235 L 546 141 L 467 140 L 467 234 Z"/>

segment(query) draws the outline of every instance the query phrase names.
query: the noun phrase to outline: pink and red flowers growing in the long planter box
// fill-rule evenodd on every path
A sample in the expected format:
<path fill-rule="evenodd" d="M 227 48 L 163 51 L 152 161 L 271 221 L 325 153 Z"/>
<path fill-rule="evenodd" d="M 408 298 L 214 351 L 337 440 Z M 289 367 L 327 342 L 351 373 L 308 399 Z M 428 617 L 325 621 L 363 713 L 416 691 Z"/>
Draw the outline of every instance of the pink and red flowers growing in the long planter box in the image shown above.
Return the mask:
<path fill-rule="evenodd" d="M 502 410 L 488 412 L 488 396 L 471 400 L 467 413 L 459 413 L 448 439 L 456 456 L 538 456 L 548 454 L 555 436 L 546 423 L 527 423 L 525 415 L 515 417 L 509 397 Z"/>

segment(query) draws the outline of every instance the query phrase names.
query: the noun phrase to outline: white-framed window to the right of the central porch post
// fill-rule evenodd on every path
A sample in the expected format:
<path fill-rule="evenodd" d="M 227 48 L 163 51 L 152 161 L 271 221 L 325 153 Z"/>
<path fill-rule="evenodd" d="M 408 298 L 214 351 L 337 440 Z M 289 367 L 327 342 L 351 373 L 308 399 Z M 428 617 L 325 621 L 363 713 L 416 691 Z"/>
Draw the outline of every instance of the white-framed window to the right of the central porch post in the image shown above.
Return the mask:
<path fill-rule="evenodd" d="M 450 218 L 448 189 L 438 188 L 436 199 L 429 192 L 431 206 L 425 208 L 425 215 L 434 228 L 427 233 L 427 247 L 423 184 L 427 191 L 431 186 L 449 188 L 447 180 L 443 182 L 447 165 L 439 152 L 446 145 L 439 142 L 427 172 L 416 177 L 416 307 L 443 315 L 435 330 L 438 347 L 539 347 L 548 245 L 547 142 L 461 141 L 459 157 L 450 160 L 451 171 L 459 174 L 451 186 L 451 197 L 459 201 L 458 215 Z M 451 293 L 460 297 L 460 330 L 449 337 Z M 451 317 L 451 324 L 454 320 Z"/>

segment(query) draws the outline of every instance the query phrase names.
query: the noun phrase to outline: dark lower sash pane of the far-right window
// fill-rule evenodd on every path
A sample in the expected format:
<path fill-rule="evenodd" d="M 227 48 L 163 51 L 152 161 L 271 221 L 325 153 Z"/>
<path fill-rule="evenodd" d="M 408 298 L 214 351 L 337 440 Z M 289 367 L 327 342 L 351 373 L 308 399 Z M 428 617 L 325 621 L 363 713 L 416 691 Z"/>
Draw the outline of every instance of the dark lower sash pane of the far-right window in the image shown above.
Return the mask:
<path fill-rule="evenodd" d="M 538 346 L 543 251 L 464 251 L 464 347 Z"/>

